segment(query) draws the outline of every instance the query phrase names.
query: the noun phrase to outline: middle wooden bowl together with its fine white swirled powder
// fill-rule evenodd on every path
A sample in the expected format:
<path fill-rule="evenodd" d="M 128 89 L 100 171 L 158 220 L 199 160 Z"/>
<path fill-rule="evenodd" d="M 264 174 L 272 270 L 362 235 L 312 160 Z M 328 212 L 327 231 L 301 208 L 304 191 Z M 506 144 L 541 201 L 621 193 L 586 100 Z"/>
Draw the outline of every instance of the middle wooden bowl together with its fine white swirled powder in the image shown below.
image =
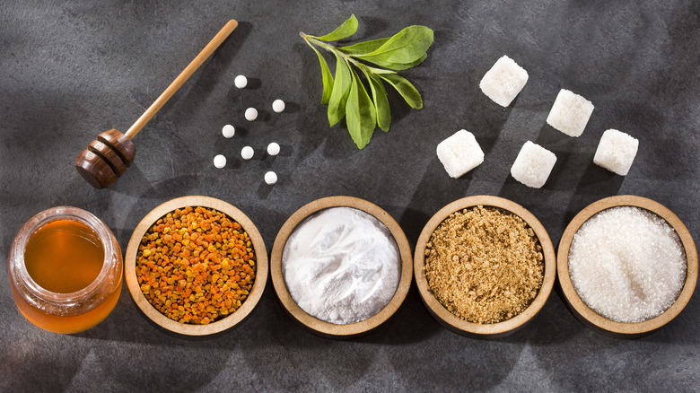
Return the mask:
<path fill-rule="evenodd" d="M 278 232 L 270 255 L 284 310 L 311 333 L 339 339 L 389 319 L 406 298 L 412 266 L 398 223 L 351 196 L 302 206 Z"/>

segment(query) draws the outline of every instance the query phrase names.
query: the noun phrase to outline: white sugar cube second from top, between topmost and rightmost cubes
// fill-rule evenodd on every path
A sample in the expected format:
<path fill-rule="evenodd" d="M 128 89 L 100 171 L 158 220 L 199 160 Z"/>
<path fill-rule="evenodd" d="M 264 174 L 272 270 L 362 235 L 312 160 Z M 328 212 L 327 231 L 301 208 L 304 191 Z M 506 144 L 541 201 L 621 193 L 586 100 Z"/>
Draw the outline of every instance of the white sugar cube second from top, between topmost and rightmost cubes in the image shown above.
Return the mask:
<path fill-rule="evenodd" d="M 580 136 L 593 113 L 593 104 L 582 96 L 562 89 L 556 95 L 547 123 L 569 136 Z"/>

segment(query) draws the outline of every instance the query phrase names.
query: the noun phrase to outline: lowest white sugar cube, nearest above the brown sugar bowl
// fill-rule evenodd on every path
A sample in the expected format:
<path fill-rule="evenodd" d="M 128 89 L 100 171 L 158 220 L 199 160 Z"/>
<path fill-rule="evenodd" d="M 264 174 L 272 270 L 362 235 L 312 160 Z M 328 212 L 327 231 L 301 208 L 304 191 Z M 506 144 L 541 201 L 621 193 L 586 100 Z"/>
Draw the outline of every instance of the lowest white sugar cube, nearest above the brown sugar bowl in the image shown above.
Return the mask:
<path fill-rule="evenodd" d="M 512 163 L 511 175 L 528 187 L 541 188 L 547 182 L 555 162 L 555 153 L 528 141 L 522 145 L 521 153 Z"/>

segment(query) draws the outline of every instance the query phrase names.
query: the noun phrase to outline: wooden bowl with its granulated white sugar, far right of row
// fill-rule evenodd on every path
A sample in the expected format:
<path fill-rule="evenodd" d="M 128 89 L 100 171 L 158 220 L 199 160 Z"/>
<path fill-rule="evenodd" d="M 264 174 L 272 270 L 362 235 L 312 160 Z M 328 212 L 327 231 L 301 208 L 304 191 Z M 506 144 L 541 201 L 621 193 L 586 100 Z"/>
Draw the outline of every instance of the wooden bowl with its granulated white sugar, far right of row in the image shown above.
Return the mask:
<path fill-rule="evenodd" d="M 697 251 L 686 226 L 642 196 L 610 196 L 577 214 L 557 251 L 569 309 L 608 336 L 645 336 L 683 310 L 696 288 Z"/>

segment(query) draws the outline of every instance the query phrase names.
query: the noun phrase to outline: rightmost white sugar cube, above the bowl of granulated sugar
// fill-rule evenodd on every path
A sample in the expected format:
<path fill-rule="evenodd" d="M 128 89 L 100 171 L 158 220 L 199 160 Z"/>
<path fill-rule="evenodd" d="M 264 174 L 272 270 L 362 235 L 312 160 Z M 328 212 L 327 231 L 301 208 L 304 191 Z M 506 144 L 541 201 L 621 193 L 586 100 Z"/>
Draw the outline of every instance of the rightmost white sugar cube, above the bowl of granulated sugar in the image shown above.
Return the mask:
<path fill-rule="evenodd" d="M 617 129 L 608 129 L 600 137 L 593 162 L 606 170 L 625 176 L 637 154 L 639 140 Z"/>

